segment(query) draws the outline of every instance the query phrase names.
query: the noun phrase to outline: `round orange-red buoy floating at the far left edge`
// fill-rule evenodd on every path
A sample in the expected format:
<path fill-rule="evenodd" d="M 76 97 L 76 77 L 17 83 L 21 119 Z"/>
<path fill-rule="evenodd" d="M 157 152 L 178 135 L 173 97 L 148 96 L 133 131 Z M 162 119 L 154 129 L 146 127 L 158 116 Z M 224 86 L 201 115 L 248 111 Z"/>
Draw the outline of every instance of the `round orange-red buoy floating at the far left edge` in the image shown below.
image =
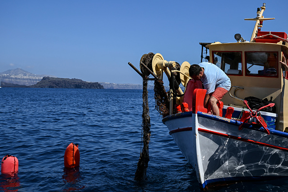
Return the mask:
<path fill-rule="evenodd" d="M 1 161 L 1 174 L 14 176 L 18 173 L 18 159 L 12 155 L 5 155 Z"/>

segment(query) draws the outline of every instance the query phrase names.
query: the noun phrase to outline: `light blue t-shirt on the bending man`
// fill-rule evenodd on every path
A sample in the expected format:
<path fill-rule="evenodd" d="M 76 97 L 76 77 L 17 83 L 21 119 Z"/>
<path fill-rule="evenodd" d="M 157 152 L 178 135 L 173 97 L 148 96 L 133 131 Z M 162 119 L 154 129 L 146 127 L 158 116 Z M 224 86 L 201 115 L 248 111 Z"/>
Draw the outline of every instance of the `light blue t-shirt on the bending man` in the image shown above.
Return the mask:
<path fill-rule="evenodd" d="M 207 89 L 206 94 L 213 93 L 217 87 L 222 87 L 227 91 L 230 90 L 231 81 L 218 66 L 208 62 L 202 62 L 199 65 L 204 68 L 201 81 L 203 82 L 204 89 Z"/>

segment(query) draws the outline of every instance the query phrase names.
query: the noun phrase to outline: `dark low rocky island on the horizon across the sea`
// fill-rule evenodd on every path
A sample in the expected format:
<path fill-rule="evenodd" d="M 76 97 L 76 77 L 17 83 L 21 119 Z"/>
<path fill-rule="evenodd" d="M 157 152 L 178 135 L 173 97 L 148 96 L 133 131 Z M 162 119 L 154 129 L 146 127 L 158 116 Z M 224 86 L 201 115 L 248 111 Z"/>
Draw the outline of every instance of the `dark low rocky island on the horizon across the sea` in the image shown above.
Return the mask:
<path fill-rule="evenodd" d="M 29 87 L 33 88 L 78 88 L 78 89 L 104 89 L 104 87 L 97 82 L 86 82 L 79 79 L 67 78 L 52 78 L 43 77 L 35 85 Z"/>

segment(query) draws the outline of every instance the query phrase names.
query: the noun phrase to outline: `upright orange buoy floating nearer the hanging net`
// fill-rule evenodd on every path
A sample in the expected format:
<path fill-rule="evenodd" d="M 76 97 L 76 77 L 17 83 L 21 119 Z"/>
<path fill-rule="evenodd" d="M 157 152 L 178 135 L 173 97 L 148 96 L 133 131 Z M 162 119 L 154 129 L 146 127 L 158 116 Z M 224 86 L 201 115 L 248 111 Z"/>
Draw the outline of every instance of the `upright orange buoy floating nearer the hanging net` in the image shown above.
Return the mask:
<path fill-rule="evenodd" d="M 64 154 L 64 167 L 75 168 L 80 164 L 80 152 L 78 144 L 69 144 Z"/>

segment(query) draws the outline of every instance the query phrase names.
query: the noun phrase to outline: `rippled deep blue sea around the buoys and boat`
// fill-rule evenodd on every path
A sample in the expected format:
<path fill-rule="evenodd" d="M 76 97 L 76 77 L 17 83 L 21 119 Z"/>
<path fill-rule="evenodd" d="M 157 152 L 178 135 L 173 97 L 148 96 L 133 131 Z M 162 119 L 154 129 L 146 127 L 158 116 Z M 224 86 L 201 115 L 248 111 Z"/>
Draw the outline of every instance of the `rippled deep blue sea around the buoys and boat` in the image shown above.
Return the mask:
<path fill-rule="evenodd" d="M 19 160 L 0 191 L 199 192 L 192 166 L 161 117 L 151 117 L 147 179 L 134 181 L 141 153 L 142 90 L 0 88 L 0 159 Z M 80 167 L 64 169 L 68 144 L 79 144 Z M 288 179 L 246 182 L 222 192 L 286 192 Z"/>

